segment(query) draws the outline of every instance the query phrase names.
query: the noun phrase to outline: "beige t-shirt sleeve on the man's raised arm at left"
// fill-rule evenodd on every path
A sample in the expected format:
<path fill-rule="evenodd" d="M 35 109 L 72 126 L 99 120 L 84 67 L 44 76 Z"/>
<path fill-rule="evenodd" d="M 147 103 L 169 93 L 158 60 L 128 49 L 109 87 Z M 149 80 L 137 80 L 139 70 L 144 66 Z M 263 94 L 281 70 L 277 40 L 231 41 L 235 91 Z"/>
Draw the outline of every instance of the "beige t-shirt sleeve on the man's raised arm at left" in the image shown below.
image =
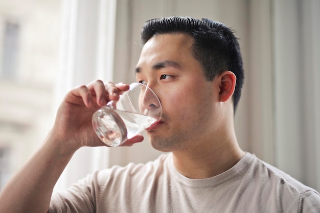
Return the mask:
<path fill-rule="evenodd" d="M 109 177 L 108 170 L 95 172 L 54 193 L 48 212 L 96 212 L 96 204 Z"/>

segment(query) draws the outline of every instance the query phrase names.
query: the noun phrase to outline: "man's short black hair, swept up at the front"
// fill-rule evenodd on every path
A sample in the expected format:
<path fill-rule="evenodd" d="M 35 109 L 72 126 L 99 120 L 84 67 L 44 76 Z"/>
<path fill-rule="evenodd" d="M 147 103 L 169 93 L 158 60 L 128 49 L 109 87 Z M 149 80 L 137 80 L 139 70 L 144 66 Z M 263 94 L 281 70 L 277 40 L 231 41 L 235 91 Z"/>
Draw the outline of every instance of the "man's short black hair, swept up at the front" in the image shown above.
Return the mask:
<path fill-rule="evenodd" d="M 145 22 L 141 30 L 142 44 L 158 34 L 185 33 L 194 39 L 193 56 L 203 67 L 208 81 L 223 71 L 230 70 L 237 77 L 233 94 L 236 112 L 244 82 L 243 62 L 238 39 L 234 31 L 223 23 L 207 18 L 171 16 Z"/>

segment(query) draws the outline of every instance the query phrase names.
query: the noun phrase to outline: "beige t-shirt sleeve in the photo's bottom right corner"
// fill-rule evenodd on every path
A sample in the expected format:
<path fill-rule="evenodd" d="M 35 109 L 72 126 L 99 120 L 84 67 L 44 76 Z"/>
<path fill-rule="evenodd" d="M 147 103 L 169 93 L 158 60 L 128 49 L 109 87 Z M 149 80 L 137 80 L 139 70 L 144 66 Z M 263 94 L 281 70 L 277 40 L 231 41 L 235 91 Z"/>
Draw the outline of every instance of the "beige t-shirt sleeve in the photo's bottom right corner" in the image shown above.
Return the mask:
<path fill-rule="evenodd" d="M 320 212 L 320 195 L 314 191 L 301 194 L 299 212 Z"/>

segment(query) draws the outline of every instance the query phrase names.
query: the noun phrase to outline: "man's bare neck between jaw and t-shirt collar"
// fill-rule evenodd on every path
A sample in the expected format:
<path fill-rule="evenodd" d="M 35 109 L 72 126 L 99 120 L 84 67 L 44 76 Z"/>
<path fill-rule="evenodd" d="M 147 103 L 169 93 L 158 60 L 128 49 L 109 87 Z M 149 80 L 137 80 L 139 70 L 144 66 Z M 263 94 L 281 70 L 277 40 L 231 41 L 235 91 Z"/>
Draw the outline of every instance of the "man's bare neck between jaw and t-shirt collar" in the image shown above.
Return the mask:
<path fill-rule="evenodd" d="M 197 146 L 172 153 L 175 168 L 192 179 L 221 174 L 236 165 L 244 155 L 235 137 L 224 142 L 198 143 Z"/>

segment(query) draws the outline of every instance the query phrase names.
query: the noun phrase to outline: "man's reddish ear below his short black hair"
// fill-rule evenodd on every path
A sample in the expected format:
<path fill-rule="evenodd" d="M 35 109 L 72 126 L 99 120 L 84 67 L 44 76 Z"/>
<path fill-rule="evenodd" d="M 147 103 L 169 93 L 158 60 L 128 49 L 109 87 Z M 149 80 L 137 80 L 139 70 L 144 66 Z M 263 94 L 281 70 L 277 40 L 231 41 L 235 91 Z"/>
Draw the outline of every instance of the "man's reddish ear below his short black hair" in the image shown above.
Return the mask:
<path fill-rule="evenodd" d="M 219 100 L 227 101 L 234 93 L 236 87 L 237 77 L 231 71 L 224 71 L 218 76 L 219 80 Z"/>

